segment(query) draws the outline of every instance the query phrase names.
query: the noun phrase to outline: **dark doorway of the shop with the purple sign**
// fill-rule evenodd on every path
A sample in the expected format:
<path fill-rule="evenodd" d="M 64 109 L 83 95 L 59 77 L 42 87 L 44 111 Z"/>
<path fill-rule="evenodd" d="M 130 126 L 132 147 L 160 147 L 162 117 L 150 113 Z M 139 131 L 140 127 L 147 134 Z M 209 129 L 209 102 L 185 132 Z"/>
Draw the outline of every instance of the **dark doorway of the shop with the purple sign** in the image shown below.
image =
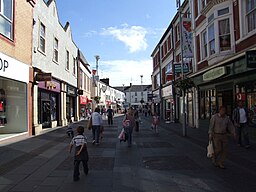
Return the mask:
<path fill-rule="evenodd" d="M 51 101 L 42 100 L 42 127 L 51 127 Z"/>

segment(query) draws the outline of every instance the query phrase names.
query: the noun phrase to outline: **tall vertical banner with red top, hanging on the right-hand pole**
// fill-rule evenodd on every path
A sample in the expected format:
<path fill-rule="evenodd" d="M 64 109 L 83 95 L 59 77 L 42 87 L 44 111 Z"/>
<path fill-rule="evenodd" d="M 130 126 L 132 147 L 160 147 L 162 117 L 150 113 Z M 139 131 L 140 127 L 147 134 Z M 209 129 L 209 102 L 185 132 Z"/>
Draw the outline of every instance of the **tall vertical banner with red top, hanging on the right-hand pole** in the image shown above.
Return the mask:
<path fill-rule="evenodd" d="M 193 58 L 193 34 L 190 18 L 182 18 L 182 50 L 184 58 Z"/>

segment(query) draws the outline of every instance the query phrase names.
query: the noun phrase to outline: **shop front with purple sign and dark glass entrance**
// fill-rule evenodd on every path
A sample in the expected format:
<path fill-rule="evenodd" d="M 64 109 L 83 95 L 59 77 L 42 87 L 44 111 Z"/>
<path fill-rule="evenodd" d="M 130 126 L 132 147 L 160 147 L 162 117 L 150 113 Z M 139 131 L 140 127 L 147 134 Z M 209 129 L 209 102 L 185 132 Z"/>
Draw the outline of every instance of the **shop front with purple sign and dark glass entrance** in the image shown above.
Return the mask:
<path fill-rule="evenodd" d="M 42 128 L 60 125 L 60 82 L 40 81 L 38 83 L 38 123 Z"/>

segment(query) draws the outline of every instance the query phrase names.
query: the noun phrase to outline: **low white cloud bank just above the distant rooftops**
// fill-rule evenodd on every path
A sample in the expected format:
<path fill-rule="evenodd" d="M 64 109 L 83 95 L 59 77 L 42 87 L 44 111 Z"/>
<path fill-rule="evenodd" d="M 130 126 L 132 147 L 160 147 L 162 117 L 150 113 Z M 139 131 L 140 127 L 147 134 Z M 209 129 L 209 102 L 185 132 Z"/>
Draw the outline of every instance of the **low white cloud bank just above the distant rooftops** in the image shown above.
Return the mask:
<path fill-rule="evenodd" d="M 111 86 L 140 85 L 140 75 L 143 84 L 151 84 L 152 71 L 151 59 L 101 61 L 99 66 L 100 78 L 109 78 Z"/>

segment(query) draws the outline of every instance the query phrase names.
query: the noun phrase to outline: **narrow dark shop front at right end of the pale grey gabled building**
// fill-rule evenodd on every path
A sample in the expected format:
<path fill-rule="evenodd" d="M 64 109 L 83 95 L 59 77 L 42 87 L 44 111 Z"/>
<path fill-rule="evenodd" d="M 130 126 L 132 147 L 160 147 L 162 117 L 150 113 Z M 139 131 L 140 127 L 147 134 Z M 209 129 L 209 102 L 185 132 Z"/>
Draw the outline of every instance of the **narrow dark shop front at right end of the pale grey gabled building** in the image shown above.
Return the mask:
<path fill-rule="evenodd" d="M 77 90 L 71 85 L 67 85 L 67 96 L 66 96 L 66 118 L 67 120 L 76 119 L 76 97 Z"/>

